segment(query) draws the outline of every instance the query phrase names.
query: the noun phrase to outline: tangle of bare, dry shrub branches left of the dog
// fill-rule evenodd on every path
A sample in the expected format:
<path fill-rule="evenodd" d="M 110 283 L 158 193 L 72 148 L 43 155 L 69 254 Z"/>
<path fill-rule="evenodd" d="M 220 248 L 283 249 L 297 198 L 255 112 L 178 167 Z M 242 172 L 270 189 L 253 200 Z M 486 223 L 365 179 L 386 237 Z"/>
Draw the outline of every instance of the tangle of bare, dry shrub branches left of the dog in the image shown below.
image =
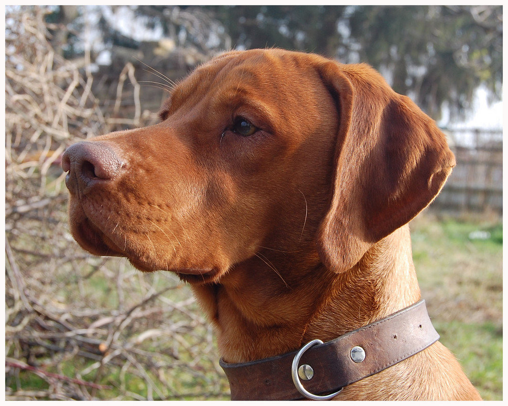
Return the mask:
<path fill-rule="evenodd" d="M 55 26 L 49 28 L 58 29 Z M 89 55 L 63 59 L 45 9 L 6 13 L 6 399 L 227 398 L 212 334 L 187 288 L 73 241 L 61 154 L 78 139 L 146 125 L 91 91 Z"/>

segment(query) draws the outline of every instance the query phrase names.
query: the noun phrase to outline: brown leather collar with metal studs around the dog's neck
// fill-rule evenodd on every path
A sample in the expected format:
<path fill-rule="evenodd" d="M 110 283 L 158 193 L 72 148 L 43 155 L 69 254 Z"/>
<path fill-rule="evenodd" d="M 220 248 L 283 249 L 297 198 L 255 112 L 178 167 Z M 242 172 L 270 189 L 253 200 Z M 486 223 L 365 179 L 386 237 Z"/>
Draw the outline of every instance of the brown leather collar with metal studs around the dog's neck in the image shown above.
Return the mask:
<path fill-rule="evenodd" d="M 311 395 L 333 393 L 415 355 L 438 339 L 425 300 L 420 300 L 385 319 L 308 350 L 238 364 L 221 359 L 220 366 L 228 377 L 232 400 L 296 400 L 304 398 L 292 378 L 295 375 L 295 380 L 299 380 L 296 377 L 298 366 L 302 368 L 301 365 L 306 364 L 313 370 L 312 379 L 300 380 L 304 392 Z M 352 354 L 353 348 L 356 349 Z M 292 373 L 292 364 L 298 355 L 301 360 Z"/>

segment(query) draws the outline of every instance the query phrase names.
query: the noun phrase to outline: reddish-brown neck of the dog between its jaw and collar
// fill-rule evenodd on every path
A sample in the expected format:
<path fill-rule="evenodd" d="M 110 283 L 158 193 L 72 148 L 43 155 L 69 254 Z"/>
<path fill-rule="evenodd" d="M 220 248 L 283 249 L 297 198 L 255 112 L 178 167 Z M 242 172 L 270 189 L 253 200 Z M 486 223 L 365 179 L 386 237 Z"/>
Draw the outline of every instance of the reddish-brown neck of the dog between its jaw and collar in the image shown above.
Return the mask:
<path fill-rule="evenodd" d="M 420 298 L 407 226 L 339 274 L 317 256 L 262 255 L 265 261 L 236 266 L 220 284 L 193 286 L 227 362 L 283 354 L 312 339 L 329 341 Z M 307 262 L 305 269 L 294 267 L 302 262 Z"/>

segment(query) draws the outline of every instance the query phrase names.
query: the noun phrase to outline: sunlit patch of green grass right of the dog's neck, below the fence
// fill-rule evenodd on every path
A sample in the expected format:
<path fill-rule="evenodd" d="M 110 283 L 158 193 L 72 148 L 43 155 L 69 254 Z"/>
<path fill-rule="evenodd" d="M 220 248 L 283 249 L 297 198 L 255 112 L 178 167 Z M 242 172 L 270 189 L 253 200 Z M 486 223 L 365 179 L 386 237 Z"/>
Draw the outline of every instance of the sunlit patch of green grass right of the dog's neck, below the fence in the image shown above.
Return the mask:
<path fill-rule="evenodd" d="M 411 236 L 440 341 L 485 400 L 502 400 L 502 222 L 423 215 L 411 223 Z"/>

